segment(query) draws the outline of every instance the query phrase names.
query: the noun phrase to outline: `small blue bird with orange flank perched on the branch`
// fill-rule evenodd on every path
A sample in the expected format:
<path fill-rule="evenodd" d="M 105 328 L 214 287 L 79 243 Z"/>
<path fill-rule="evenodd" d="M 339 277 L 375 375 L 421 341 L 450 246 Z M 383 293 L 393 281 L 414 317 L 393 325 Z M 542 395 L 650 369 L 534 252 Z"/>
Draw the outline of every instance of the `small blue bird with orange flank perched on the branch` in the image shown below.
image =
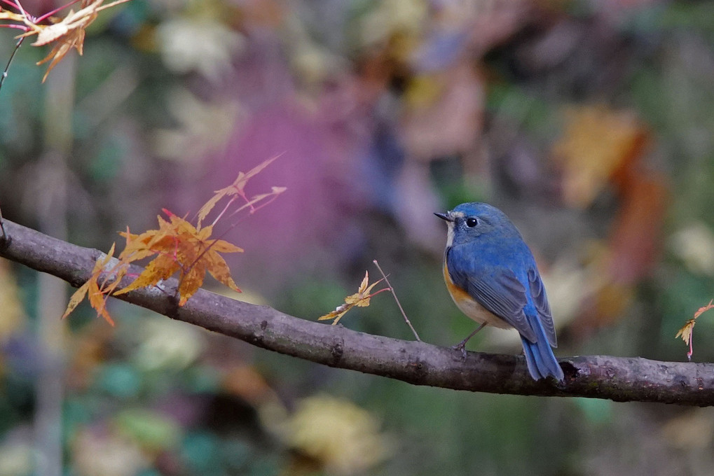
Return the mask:
<path fill-rule="evenodd" d="M 456 345 L 466 343 L 486 325 L 516 328 L 533 380 L 563 370 L 553 355 L 555 326 L 543 281 L 530 248 L 505 213 L 486 203 L 462 203 L 446 213 L 448 234 L 443 274 L 453 302 L 481 325 Z"/>

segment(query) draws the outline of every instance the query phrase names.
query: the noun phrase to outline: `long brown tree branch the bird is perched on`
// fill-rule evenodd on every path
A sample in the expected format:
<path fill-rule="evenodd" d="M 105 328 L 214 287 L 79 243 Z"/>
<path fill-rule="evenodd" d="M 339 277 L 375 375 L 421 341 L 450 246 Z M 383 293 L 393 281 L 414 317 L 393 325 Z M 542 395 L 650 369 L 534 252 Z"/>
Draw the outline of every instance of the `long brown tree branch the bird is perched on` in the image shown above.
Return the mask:
<path fill-rule="evenodd" d="M 102 253 L 4 221 L 0 256 L 77 287 Z M 619 402 L 714 405 L 714 364 L 673 363 L 606 355 L 560 359 L 565 381 L 535 382 L 516 355 L 461 352 L 423 342 L 397 340 L 295 318 L 268 306 L 251 305 L 199 290 L 182 308 L 172 298 L 176 280 L 119 299 L 169 318 L 245 340 L 261 348 L 331 367 L 358 370 L 414 385 L 558 397 L 606 398 Z M 58 316 L 59 319 L 59 316 Z"/>

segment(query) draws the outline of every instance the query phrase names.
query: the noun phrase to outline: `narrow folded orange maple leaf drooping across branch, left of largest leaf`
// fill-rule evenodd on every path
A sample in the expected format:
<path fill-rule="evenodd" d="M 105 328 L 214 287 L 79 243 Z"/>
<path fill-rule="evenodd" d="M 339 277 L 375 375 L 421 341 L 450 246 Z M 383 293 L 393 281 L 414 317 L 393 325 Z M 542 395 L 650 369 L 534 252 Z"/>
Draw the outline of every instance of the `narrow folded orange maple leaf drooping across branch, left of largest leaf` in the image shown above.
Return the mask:
<path fill-rule="evenodd" d="M 92 270 L 89 279 L 86 283 L 81 285 L 69 299 L 69 304 L 62 315 L 63 319 L 66 318 L 87 295 L 89 295 L 88 299 L 91 307 L 94 308 L 97 314 L 101 315 L 106 322 L 114 325 L 114 320 L 106 310 L 106 299 L 111 293 L 114 292 L 116 286 L 119 285 L 121 278 L 123 278 L 126 274 L 126 266 L 119 262 L 117 265 L 114 265 L 114 267 L 107 270 L 106 266 L 109 265 L 112 255 L 114 255 L 114 245 L 111 245 L 109 253 L 104 255 L 104 258 L 96 260 L 96 263 L 94 263 L 94 269 Z M 101 279 L 103 275 L 104 279 Z M 111 283 L 108 283 L 110 279 Z"/>

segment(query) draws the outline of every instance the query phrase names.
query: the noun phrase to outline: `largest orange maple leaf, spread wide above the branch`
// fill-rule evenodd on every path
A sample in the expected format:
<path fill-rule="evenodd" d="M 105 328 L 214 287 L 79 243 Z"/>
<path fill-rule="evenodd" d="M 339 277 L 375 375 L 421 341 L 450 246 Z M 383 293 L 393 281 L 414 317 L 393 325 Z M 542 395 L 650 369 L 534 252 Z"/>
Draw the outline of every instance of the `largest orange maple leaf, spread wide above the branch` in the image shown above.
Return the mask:
<path fill-rule="evenodd" d="M 219 253 L 241 253 L 242 248 L 225 240 L 211 239 L 213 226 L 200 230 L 183 218 L 164 210 L 169 221 L 159 216 L 159 230 L 149 230 L 141 235 L 121 233 L 127 239 L 126 248 L 119 259 L 136 260 L 156 255 L 133 283 L 115 293 L 153 286 L 178 271 L 178 305 L 186 304 L 203 284 L 206 272 L 220 283 L 241 292 L 231 278 L 226 260 Z"/>

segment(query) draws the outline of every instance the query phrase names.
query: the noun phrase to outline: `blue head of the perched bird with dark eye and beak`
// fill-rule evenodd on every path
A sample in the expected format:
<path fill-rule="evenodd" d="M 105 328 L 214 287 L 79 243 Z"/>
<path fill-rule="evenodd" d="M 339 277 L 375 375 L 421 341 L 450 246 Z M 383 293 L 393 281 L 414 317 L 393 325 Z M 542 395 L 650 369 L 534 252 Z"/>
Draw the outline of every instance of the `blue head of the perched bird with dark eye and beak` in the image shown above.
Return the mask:
<path fill-rule="evenodd" d="M 434 215 L 445 220 L 448 225 L 447 247 L 470 243 L 486 235 L 490 238 L 506 238 L 515 233 L 515 236 L 521 237 L 506 213 L 488 203 L 461 203 L 451 211 Z"/>

